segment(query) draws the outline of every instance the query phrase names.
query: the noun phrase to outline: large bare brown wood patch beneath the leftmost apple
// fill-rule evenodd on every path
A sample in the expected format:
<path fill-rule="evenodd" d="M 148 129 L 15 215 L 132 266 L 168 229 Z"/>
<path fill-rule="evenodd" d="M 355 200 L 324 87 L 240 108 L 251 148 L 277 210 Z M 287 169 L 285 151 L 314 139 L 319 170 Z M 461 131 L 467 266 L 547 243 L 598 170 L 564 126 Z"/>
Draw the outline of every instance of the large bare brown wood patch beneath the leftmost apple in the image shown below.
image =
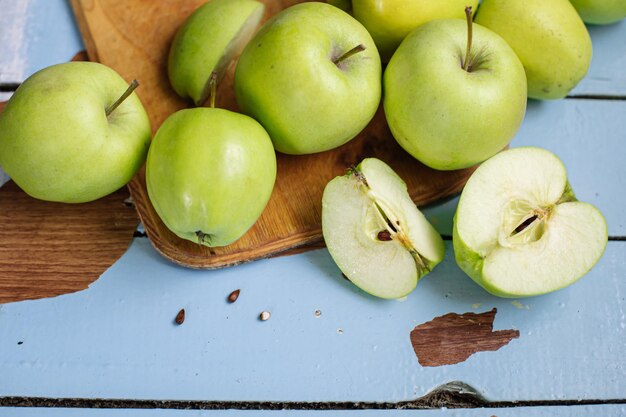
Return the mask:
<path fill-rule="evenodd" d="M 124 188 L 85 204 L 0 188 L 0 303 L 85 289 L 124 254 L 137 226 Z"/>

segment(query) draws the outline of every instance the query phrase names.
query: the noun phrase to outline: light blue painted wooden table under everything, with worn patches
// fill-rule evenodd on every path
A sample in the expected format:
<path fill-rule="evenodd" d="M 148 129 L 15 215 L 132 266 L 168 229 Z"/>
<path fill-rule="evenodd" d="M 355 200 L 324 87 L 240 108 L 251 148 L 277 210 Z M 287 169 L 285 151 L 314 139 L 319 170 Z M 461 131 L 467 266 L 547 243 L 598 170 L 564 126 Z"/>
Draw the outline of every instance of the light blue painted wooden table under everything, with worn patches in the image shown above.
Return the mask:
<path fill-rule="evenodd" d="M 0 99 L 83 48 L 63 0 L 0 0 L 0 10 Z M 383 301 L 341 279 L 325 249 L 196 271 L 137 237 L 85 291 L 0 305 L 0 415 L 626 415 L 626 22 L 590 33 L 587 77 L 565 100 L 530 101 L 512 143 L 556 153 L 607 219 L 606 253 L 575 285 L 496 298 L 458 269 L 448 241 L 415 292 Z M 425 210 L 445 236 L 456 203 Z M 518 338 L 458 364 L 419 364 L 415 326 L 494 308 L 494 330 Z"/>

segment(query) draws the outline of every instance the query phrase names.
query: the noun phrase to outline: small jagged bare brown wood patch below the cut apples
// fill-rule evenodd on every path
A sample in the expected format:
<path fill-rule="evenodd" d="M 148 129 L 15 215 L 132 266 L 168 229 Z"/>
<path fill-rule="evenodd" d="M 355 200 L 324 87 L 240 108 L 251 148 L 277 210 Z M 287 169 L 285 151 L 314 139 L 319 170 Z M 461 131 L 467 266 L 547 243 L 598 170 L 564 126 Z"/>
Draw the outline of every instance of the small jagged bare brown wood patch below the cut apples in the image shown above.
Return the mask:
<path fill-rule="evenodd" d="M 411 345 L 422 366 L 463 362 L 476 352 L 494 351 L 519 337 L 519 330 L 493 331 L 497 309 L 484 313 L 448 313 L 411 331 Z"/>

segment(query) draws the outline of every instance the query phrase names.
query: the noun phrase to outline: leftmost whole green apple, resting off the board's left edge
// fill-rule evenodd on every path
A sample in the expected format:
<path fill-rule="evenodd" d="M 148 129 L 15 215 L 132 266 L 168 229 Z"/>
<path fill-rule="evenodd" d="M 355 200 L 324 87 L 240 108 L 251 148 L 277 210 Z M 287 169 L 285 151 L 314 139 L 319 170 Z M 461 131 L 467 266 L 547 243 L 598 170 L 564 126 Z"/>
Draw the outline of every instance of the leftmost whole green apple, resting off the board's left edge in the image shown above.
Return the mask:
<path fill-rule="evenodd" d="M 124 186 L 143 165 L 150 122 L 136 94 L 93 62 L 45 68 L 19 86 L 0 115 L 0 166 L 30 196 L 84 203 Z"/>

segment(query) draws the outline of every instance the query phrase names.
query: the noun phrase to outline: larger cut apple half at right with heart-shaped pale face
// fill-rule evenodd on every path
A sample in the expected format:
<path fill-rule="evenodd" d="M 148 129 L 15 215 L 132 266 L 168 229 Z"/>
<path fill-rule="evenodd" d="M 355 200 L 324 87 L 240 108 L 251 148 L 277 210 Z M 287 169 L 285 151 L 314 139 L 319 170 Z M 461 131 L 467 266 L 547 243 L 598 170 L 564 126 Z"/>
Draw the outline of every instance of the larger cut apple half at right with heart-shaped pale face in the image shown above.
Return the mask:
<path fill-rule="evenodd" d="M 515 148 L 483 163 L 461 194 L 454 253 L 492 294 L 528 297 L 566 287 L 598 262 L 604 217 L 577 201 L 563 163 L 540 148 Z"/>

